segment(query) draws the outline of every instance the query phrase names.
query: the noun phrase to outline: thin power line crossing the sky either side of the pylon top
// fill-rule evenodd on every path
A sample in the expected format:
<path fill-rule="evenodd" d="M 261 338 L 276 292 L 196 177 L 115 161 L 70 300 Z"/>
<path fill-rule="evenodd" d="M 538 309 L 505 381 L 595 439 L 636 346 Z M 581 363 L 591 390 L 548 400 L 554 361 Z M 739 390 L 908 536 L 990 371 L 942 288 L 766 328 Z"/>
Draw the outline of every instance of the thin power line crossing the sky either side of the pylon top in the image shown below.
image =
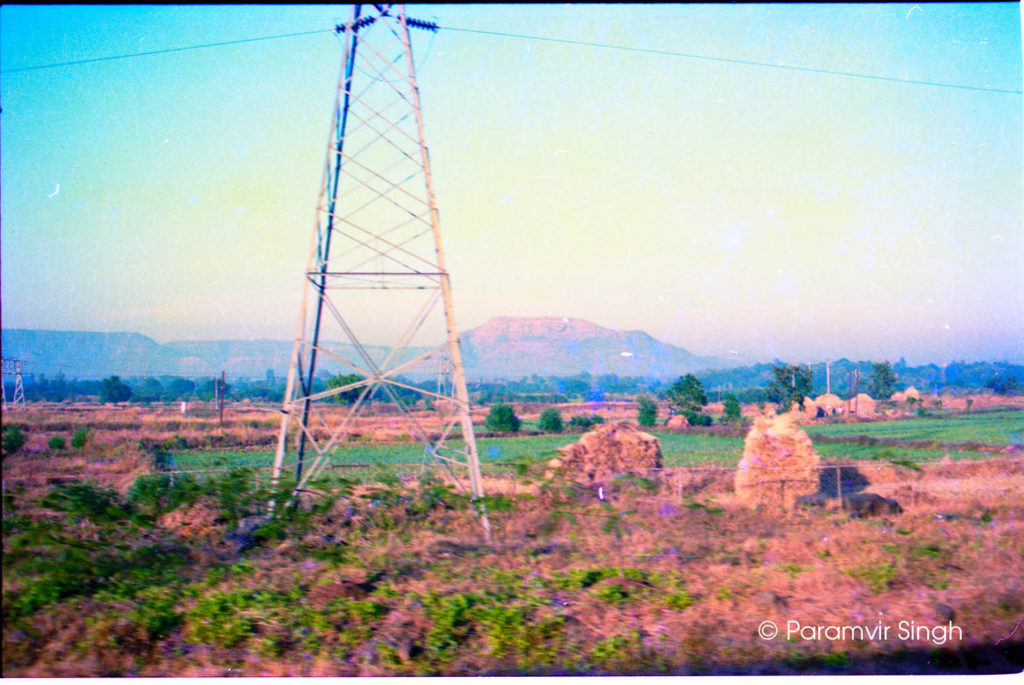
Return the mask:
<path fill-rule="evenodd" d="M 677 52 L 677 51 L 674 51 L 674 50 L 658 50 L 658 49 L 654 49 L 654 48 L 632 47 L 632 46 L 629 46 L 629 45 L 612 45 L 612 44 L 609 44 L 609 43 L 597 43 L 597 42 L 591 42 L 591 41 L 579 41 L 579 40 L 571 40 L 571 39 L 568 39 L 568 38 L 549 38 L 549 37 L 546 37 L 546 36 L 530 36 L 530 35 L 526 35 L 526 34 L 512 34 L 512 33 L 504 33 L 504 32 L 499 32 L 499 31 L 482 31 L 482 30 L 479 30 L 479 29 L 463 29 L 463 28 L 460 28 L 460 27 L 440 27 L 440 28 L 442 30 L 445 30 L 445 31 L 455 31 L 455 32 L 459 32 L 459 33 L 479 34 L 479 35 L 482 35 L 482 36 L 497 36 L 497 37 L 500 37 L 500 38 L 518 38 L 518 39 L 522 39 L 522 40 L 542 41 L 542 42 L 546 42 L 546 43 L 560 43 L 560 44 L 564 44 L 564 45 L 578 45 L 578 46 L 582 46 L 582 47 L 596 47 L 596 48 L 601 48 L 601 49 L 606 49 L 606 50 L 623 50 L 625 52 L 638 52 L 638 53 L 642 53 L 642 54 L 655 54 L 655 55 L 662 55 L 662 56 L 668 56 L 668 57 L 682 57 L 682 58 L 686 58 L 686 59 L 702 59 L 705 61 L 718 61 L 718 62 L 724 62 L 724 63 L 730 63 L 730 65 L 744 65 L 746 67 L 764 67 L 764 68 L 768 68 L 768 69 L 781 69 L 781 70 L 791 71 L 791 72 L 804 72 L 804 73 L 809 73 L 809 74 L 824 74 L 824 75 L 827 75 L 827 76 L 844 76 L 844 77 L 847 77 L 847 78 L 868 79 L 868 80 L 871 80 L 871 81 L 886 81 L 886 82 L 889 82 L 889 83 L 902 83 L 902 84 L 912 84 L 912 85 L 919 85 L 919 86 L 932 86 L 932 87 L 936 87 L 936 88 L 953 88 L 953 89 L 956 89 L 956 90 L 970 90 L 970 91 L 975 91 L 975 92 L 1005 93 L 1005 94 L 1010 94 L 1010 95 L 1020 95 L 1020 94 L 1024 93 L 1024 91 L 1021 91 L 1020 89 L 1012 89 L 1012 88 L 992 88 L 992 87 L 989 87 L 989 86 L 970 86 L 970 85 L 956 84 L 956 83 L 943 83 L 943 82 L 940 82 L 940 81 L 923 81 L 923 80 L 920 80 L 920 79 L 900 79 L 900 78 L 893 77 L 893 76 L 878 76 L 878 75 L 873 75 L 873 74 L 861 74 L 859 72 L 841 72 L 841 71 L 829 70 L 829 69 L 818 69 L 816 67 L 797 67 L 797 66 L 792 66 L 792 65 L 772 65 L 770 62 L 756 61 L 756 60 L 753 60 L 753 59 L 736 59 L 736 58 L 732 58 L 732 57 L 715 57 L 715 56 L 705 55 L 705 54 L 693 54 L 693 53 L 689 53 L 689 52 Z M 20 72 L 31 72 L 31 71 L 38 71 L 38 70 L 43 70 L 43 69 L 57 69 L 57 68 L 60 68 L 60 67 L 73 67 L 73 66 L 77 66 L 77 65 L 87 65 L 87 63 L 92 63 L 92 62 L 97 62 L 97 61 L 111 61 L 111 60 L 114 60 L 114 59 L 128 59 L 128 58 L 131 58 L 131 57 L 143 57 L 143 56 L 150 56 L 150 55 L 156 55 L 156 54 L 167 54 L 167 53 L 171 53 L 171 52 L 184 52 L 186 50 L 198 50 L 198 49 L 210 48 L 210 47 L 223 47 L 223 46 L 227 46 L 227 45 L 240 45 L 240 44 L 243 44 L 243 43 L 254 43 L 254 42 L 257 42 L 257 41 L 275 40 L 275 39 L 280 39 L 280 38 L 295 38 L 295 37 L 299 37 L 299 36 L 311 36 L 311 35 L 314 35 L 314 34 L 322 34 L 322 33 L 334 33 L 334 31 L 332 29 L 319 29 L 319 30 L 315 30 L 315 31 L 302 31 L 302 32 L 291 33 L 291 34 L 276 34 L 276 35 L 273 35 L 273 36 L 259 36 L 259 37 L 256 37 L 256 38 L 242 38 L 242 39 L 239 39 L 239 40 L 222 41 L 222 42 L 219 42 L 219 43 L 205 43 L 205 44 L 202 44 L 202 45 L 186 45 L 186 46 L 183 46 L 183 47 L 167 48 L 167 49 L 163 49 L 163 50 L 151 50 L 148 52 L 132 52 L 132 53 L 126 53 L 126 54 L 114 54 L 114 55 L 108 55 L 105 57 L 92 57 L 92 58 L 88 58 L 88 59 L 76 59 L 76 60 L 72 60 L 72 61 L 61 61 L 61 62 L 55 62 L 55 63 L 50 63 L 50 65 L 36 65 L 36 66 L 33 66 L 33 67 L 18 67 L 18 68 L 15 68 L 15 69 L 4 70 L 3 72 L 0 72 L 0 74 L 16 74 L 16 73 L 20 73 Z"/>

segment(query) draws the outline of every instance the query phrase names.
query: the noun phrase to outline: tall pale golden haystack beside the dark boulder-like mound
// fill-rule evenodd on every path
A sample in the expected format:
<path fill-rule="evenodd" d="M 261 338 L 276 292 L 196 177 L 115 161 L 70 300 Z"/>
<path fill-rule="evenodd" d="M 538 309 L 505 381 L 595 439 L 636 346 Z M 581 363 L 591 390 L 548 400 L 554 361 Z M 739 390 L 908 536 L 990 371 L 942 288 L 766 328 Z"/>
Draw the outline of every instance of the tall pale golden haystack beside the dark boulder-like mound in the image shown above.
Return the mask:
<path fill-rule="evenodd" d="M 736 497 L 749 507 L 793 508 L 801 495 L 818 491 L 821 460 L 793 418 L 755 419 L 736 471 Z"/>

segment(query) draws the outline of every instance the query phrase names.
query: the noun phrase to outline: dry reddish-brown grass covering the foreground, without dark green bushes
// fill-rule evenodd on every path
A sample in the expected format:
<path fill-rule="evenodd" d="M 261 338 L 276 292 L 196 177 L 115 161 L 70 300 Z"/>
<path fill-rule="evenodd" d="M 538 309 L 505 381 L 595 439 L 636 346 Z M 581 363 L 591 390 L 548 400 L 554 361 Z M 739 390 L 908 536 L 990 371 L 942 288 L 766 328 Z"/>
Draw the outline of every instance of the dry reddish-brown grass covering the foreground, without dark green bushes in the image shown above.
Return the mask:
<path fill-rule="evenodd" d="M 84 474 L 123 488 L 148 464 L 148 455 L 131 440 L 184 432 L 184 424 L 170 428 L 171 417 L 144 414 L 131 418 L 145 426 L 139 429 L 97 412 L 81 412 L 81 423 L 39 418 L 51 428 L 68 422 L 42 431 L 44 436 L 69 432 L 69 425 L 102 427 L 94 429 L 96 441 L 79 452 L 44 448 L 8 457 L 5 479 Z M 387 429 L 389 417 L 379 419 L 379 428 Z M 273 423 L 272 417 L 262 420 Z M 209 423 L 193 428 L 202 436 L 219 429 Z M 242 436 L 250 428 L 260 430 L 224 430 Z M 40 430 L 30 428 L 34 439 Z M 835 501 L 785 517 L 752 510 L 733 490 L 733 472 L 711 466 L 663 469 L 650 481 L 611 479 L 603 501 L 591 488 L 546 480 L 536 471 L 488 477 L 486 491 L 496 498 L 489 544 L 472 511 L 443 493 L 432 500 L 439 490 L 429 483 L 361 485 L 304 527 L 242 554 L 224 540 L 221 505 L 204 496 L 138 533 L 138 544 L 187 549 L 181 580 L 167 586 L 182 616 L 179 625 L 159 637 L 140 633 L 141 596 L 71 597 L 16 623 L 5 614 L 3 674 L 1019 671 L 1024 639 L 1019 630 L 1007 636 L 1024 616 L 1024 460 L 920 468 L 856 466 L 863 491 L 900 502 L 903 514 L 893 520 L 851 520 Z M 813 480 L 817 484 L 816 470 Z M 44 489 L 40 485 L 39 493 Z M 31 498 L 15 496 L 18 502 Z M 68 530 L 83 541 L 101 540 L 96 526 L 76 525 Z M 5 554 L 9 534 L 5 527 Z M 226 568 L 239 570 L 225 574 Z M 22 591 L 31 577 L 5 562 L 3 580 L 9 593 Z M 205 615 L 203 602 L 231 593 L 254 599 L 203 620 L 213 626 L 251 619 L 243 639 L 224 646 L 188 638 Z M 258 599 L 264 596 L 278 599 Z M 445 628 L 444 602 L 459 597 L 468 602 L 465 623 L 453 619 Z M 338 607 L 358 602 L 384 609 L 373 619 L 339 613 Z M 944 625 L 939 604 L 955 611 L 964 640 L 938 651 L 920 639 L 765 641 L 756 635 L 765 619 L 780 626 L 880 619 L 893 627 L 900 619 Z M 550 631 L 539 632 L 543 626 Z M 303 642 L 309 635 L 318 639 L 314 646 Z M 449 637 L 450 646 L 437 646 Z"/>

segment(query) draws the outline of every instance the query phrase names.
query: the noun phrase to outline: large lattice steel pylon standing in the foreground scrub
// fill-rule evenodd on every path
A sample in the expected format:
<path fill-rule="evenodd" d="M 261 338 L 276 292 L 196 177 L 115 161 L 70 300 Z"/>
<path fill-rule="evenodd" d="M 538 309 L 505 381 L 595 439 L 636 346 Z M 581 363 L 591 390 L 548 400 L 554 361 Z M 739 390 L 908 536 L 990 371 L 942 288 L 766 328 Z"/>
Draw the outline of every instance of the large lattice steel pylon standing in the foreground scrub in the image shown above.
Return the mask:
<path fill-rule="evenodd" d="M 480 466 L 411 28 L 437 30 L 407 17 L 402 5 L 355 5 L 351 20 L 336 28 L 345 52 L 273 479 L 286 466 L 293 423 L 301 489 L 353 439 L 356 417 L 377 400 L 397 410 L 424 447 L 424 465 L 439 465 L 476 500 L 483 496 Z M 439 359 L 452 369 L 443 387 L 434 384 Z M 321 385 L 316 372 L 326 365 L 346 372 L 342 384 Z M 428 397 L 442 415 L 439 426 L 424 425 L 427 413 L 414 411 Z M 339 406 L 341 400 L 350 404 Z M 453 435 L 456 424 L 461 440 Z M 489 537 L 485 515 L 482 522 Z"/>

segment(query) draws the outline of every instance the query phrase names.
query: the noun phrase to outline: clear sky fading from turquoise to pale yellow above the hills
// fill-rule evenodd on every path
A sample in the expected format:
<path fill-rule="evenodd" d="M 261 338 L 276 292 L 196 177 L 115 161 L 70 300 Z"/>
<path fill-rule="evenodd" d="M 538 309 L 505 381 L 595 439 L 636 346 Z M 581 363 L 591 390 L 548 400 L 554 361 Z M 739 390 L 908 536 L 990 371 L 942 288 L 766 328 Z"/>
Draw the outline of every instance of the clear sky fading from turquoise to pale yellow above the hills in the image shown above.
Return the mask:
<path fill-rule="evenodd" d="M 349 13 L 0 7 L 3 327 L 291 339 Z M 1018 3 L 409 13 L 460 330 L 1024 361 Z"/>

